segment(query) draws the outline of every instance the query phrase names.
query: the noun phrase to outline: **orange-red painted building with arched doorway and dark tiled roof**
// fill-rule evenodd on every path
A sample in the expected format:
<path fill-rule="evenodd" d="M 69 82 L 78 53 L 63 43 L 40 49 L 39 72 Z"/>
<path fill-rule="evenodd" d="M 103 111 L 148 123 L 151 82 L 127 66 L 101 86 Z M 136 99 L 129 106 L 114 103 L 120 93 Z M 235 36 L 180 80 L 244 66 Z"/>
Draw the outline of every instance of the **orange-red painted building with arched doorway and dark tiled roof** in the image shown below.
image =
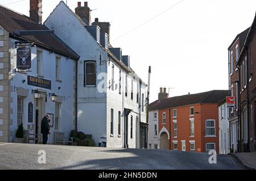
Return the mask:
<path fill-rule="evenodd" d="M 228 94 L 213 90 L 151 103 L 150 110 L 158 110 L 160 149 L 218 153 L 218 102 Z"/>

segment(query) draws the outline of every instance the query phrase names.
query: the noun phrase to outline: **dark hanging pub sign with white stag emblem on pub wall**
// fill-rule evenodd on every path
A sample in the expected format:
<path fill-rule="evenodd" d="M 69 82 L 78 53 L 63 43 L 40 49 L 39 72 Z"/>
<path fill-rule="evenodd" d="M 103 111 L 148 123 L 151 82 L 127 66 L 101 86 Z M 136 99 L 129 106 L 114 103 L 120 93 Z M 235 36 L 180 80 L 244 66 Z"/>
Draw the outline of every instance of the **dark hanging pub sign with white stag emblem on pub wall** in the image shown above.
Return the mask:
<path fill-rule="evenodd" d="M 18 45 L 17 69 L 31 69 L 31 45 Z"/>

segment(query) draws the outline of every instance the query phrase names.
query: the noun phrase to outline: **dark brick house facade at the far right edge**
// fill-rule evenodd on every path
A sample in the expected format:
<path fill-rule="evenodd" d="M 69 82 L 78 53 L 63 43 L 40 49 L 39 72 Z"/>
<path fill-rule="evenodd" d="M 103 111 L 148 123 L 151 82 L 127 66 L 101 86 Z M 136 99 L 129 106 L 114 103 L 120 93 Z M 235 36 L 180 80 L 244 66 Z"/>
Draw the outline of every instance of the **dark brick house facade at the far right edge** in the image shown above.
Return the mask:
<path fill-rule="evenodd" d="M 256 150 L 255 142 L 255 102 L 256 102 L 256 16 L 253 24 L 247 32 L 240 56 L 237 58 L 236 65 L 240 71 L 238 80 L 239 92 L 239 118 L 241 120 L 240 137 L 241 152 L 250 152 Z"/>

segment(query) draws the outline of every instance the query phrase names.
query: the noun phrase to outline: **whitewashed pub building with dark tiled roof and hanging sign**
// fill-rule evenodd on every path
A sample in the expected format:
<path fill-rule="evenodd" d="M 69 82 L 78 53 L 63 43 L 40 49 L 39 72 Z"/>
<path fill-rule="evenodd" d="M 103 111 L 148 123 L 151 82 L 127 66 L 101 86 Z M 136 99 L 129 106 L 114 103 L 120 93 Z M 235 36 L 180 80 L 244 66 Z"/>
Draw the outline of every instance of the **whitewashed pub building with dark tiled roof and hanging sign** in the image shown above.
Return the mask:
<path fill-rule="evenodd" d="M 0 142 L 14 142 L 20 124 L 39 134 L 51 117 L 51 134 L 76 129 L 76 70 L 79 56 L 42 25 L 40 7 L 30 17 L 0 5 Z M 36 13 L 35 13 L 36 12 Z"/>

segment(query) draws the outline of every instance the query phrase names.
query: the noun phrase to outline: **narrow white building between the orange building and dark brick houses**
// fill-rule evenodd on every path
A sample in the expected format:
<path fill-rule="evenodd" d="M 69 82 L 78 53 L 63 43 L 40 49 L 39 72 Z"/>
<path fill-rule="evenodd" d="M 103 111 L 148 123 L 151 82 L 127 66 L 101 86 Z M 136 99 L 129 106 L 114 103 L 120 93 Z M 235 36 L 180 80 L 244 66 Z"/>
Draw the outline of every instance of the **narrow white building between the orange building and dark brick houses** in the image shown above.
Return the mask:
<path fill-rule="evenodd" d="M 218 125 L 219 125 L 219 153 L 230 153 L 230 128 L 229 128 L 229 112 L 226 102 L 223 100 L 218 106 Z"/>

